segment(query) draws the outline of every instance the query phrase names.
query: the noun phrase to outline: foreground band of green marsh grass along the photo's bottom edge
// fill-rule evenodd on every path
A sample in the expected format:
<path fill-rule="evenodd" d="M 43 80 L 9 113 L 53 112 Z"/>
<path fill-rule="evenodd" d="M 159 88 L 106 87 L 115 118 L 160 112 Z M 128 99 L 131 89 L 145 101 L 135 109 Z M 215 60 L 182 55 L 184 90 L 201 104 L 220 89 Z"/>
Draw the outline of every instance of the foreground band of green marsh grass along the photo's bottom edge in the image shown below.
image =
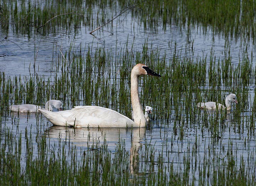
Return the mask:
<path fill-rule="evenodd" d="M 164 146 L 158 149 L 151 140 L 145 140 L 143 146 L 134 146 L 129 153 L 125 141 L 119 139 L 113 153 L 108 150 L 105 139 L 101 143 L 96 140 L 92 145 L 87 144 L 87 150 L 78 153 L 75 145 L 65 143 L 60 138 L 50 145 L 50 138 L 42 136 L 34 146 L 29 130 L 14 136 L 6 128 L 4 136 L 0 146 L 0 171 L 4 175 L 1 176 L 2 184 L 255 184 L 255 176 L 250 174 L 256 168 L 253 161 L 255 153 L 248 154 L 249 161 L 243 155 L 238 161 L 239 154 L 235 150 L 238 147 L 234 148 L 232 141 L 228 142 L 227 149 L 223 147 L 220 152 L 209 141 L 203 146 L 198 144 L 200 140 L 188 141 L 185 146 L 187 151 L 181 153 L 182 147 L 172 152 L 165 151 Z M 169 145 L 169 142 L 165 145 Z"/>

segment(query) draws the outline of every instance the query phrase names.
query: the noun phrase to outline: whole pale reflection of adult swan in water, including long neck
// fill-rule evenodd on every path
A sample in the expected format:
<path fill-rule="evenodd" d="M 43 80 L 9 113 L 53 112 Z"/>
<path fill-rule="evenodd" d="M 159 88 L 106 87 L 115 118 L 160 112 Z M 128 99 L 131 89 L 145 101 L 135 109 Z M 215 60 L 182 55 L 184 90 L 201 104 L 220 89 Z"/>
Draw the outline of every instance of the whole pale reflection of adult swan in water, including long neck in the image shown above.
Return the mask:
<path fill-rule="evenodd" d="M 124 147 L 130 152 L 130 173 L 134 175 L 138 170 L 137 155 L 141 142 L 145 142 L 146 128 L 72 128 L 51 126 L 45 135 L 52 140 L 64 140 L 76 146 L 94 148 L 98 144 L 107 143 L 110 151 L 116 151 L 117 143 L 124 140 Z"/>

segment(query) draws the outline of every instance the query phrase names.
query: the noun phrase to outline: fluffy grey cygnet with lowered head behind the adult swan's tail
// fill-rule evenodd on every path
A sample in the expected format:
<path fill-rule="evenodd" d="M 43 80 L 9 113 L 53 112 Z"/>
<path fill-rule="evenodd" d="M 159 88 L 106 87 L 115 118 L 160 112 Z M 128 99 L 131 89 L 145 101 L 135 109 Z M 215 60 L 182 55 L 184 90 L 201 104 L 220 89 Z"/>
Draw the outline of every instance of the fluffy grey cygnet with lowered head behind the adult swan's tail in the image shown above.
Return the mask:
<path fill-rule="evenodd" d="M 62 110 L 63 103 L 60 100 L 49 100 L 45 104 L 45 108 L 42 108 L 42 106 L 38 105 L 32 105 L 32 104 L 23 104 L 23 105 L 10 105 L 9 109 L 10 111 L 14 112 L 20 112 L 20 113 L 36 113 L 38 112 L 37 109 L 44 109 L 44 110 L 49 110 L 53 111 L 53 107 Z"/>

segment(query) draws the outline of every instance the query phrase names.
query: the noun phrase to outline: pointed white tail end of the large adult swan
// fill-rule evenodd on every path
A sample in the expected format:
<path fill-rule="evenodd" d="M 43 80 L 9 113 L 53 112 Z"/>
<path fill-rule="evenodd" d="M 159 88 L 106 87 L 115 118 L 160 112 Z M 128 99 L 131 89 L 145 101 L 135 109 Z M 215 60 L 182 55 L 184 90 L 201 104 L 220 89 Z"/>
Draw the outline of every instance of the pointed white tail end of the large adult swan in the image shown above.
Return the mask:
<path fill-rule="evenodd" d="M 60 114 L 58 114 L 58 112 L 43 109 L 38 109 L 38 111 L 40 111 L 53 125 L 67 126 L 66 120 Z"/>

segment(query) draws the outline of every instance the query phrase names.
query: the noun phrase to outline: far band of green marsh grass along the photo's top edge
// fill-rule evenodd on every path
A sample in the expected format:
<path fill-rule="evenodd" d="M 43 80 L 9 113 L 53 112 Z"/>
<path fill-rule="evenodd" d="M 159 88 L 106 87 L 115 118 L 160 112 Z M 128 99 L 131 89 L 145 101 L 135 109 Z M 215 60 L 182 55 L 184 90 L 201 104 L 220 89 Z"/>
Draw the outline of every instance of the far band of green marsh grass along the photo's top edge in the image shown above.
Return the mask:
<path fill-rule="evenodd" d="M 78 32 L 81 25 L 92 31 L 112 20 L 122 11 L 130 9 L 134 21 L 143 25 L 145 30 L 157 32 L 159 28 L 168 31 L 169 27 L 187 28 L 187 40 L 191 39 L 191 31 L 202 26 L 203 34 L 210 30 L 213 40 L 223 34 L 225 39 L 242 38 L 255 44 L 255 3 L 254 1 L 208 1 L 194 2 L 177 0 L 147 0 L 118 2 L 103 1 L 69 1 L 55 2 L 37 1 L 1 1 L 0 29 L 3 33 L 12 30 L 16 33 L 41 34 L 56 33 L 60 28 Z M 150 6 L 149 6 L 150 5 Z M 117 19 L 122 23 L 127 14 Z M 113 32 L 113 21 L 104 30 Z"/>

